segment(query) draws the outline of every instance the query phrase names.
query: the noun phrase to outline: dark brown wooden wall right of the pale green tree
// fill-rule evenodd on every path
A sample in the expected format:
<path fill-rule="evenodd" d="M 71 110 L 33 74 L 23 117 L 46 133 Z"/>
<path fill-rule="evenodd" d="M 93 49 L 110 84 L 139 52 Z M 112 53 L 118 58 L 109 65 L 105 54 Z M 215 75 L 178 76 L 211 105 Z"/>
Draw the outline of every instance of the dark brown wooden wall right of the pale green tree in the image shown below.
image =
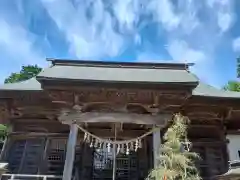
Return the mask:
<path fill-rule="evenodd" d="M 196 162 L 204 180 L 228 171 L 227 141 L 221 125 L 195 126 L 189 129 L 192 151 L 200 155 Z"/>

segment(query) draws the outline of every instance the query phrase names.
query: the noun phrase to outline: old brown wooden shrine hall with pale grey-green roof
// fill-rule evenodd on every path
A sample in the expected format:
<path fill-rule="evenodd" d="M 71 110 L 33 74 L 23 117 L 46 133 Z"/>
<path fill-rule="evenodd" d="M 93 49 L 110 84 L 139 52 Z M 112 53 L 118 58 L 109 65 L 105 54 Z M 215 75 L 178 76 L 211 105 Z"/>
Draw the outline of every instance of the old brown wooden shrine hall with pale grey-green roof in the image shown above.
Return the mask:
<path fill-rule="evenodd" d="M 174 113 L 191 120 L 202 178 L 228 171 L 240 93 L 200 82 L 191 64 L 50 61 L 35 78 L 0 86 L 2 180 L 144 180 Z"/>

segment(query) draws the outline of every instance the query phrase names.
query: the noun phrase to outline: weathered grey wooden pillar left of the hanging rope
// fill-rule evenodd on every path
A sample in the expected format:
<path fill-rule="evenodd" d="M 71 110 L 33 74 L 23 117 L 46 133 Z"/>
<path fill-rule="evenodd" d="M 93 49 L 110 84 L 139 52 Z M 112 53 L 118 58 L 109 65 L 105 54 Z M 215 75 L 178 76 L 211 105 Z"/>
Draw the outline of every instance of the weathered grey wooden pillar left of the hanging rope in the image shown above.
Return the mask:
<path fill-rule="evenodd" d="M 73 163 L 75 159 L 75 146 L 77 142 L 77 135 L 78 135 L 78 127 L 77 124 L 70 125 L 70 133 L 68 136 L 68 143 L 67 143 L 67 152 L 66 152 L 66 159 L 64 164 L 64 171 L 63 171 L 63 180 L 71 180 L 72 178 L 72 170 L 73 170 Z"/>

